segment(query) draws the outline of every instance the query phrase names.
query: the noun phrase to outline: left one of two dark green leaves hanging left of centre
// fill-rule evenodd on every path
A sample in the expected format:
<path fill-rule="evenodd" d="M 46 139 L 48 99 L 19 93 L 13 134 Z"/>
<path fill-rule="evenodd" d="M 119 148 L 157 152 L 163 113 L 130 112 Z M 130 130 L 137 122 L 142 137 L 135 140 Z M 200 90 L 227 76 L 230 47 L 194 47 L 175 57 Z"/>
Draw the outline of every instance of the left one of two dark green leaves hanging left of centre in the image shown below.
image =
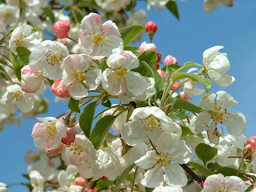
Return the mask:
<path fill-rule="evenodd" d="M 81 126 L 81 129 L 87 138 L 90 137 L 90 130 L 94 121 L 96 103 L 97 102 L 91 102 L 88 106 L 86 106 L 86 108 L 82 110 L 82 114 L 79 118 L 79 125 Z"/>

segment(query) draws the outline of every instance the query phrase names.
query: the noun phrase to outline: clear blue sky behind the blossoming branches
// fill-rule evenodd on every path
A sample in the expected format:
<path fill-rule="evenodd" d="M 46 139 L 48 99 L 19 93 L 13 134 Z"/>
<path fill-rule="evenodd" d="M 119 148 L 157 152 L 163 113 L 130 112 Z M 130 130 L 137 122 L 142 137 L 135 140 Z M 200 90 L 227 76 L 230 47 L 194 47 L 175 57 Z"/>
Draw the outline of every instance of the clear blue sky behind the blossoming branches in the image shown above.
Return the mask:
<path fill-rule="evenodd" d="M 147 12 L 147 20 L 158 24 L 154 43 L 158 52 L 178 58 L 180 65 L 185 62 L 202 62 L 202 52 L 211 46 L 224 46 L 222 52 L 228 54 L 230 70 L 236 81 L 227 88 L 213 86 L 211 92 L 225 90 L 231 94 L 238 106 L 234 110 L 241 111 L 247 118 L 246 136 L 256 135 L 254 126 L 254 107 L 256 106 L 256 86 L 254 77 L 256 71 L 256 1 L 234 0 L 234 7 L 221 6 L 212 14 L 202 12 L 203 1 L 178 1 L 180 20 L 178 21 L 168 10 L 151 10 Z M 146 8 L 145 2 L 138 2 L 137 9 Z M 149 42 L 146 34 L 143 40 Z M 137 45 L 139 46 L 139 45 Z M 162 60 L 163 61 L 163 60 Z M 50 98 L 49 112 L 44 116 L 58 116 L 67 110 L 62 102 L 54 103 L 54 96 L 47 92 Z M 31 130 L 35 119 L 22 119 L 22 126 L 5 126 L 0 133 L 2 154 L 0 158 L 0 182 L 7 184 L 26 182 L 22 173 L 26 174 L 24 157 L 26 150 L 35 149 Z M 24 186 L 13 186 L 9 190 L 28 191 Z"/>

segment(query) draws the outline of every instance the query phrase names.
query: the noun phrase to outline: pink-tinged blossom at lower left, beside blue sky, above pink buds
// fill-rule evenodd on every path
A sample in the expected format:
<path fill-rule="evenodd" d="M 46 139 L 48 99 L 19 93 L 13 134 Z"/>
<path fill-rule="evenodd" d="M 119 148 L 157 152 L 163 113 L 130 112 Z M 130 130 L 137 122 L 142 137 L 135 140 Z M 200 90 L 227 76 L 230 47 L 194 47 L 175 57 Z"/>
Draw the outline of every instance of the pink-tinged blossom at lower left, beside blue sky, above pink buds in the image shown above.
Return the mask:
<path fill-rule="evenodd" d="M 40 125 L 32 131 L 34 145 L 41 149 L 56 149 L 62 138 L 66 138 L 66 125 L 62 118 L 38 118 Z"/>

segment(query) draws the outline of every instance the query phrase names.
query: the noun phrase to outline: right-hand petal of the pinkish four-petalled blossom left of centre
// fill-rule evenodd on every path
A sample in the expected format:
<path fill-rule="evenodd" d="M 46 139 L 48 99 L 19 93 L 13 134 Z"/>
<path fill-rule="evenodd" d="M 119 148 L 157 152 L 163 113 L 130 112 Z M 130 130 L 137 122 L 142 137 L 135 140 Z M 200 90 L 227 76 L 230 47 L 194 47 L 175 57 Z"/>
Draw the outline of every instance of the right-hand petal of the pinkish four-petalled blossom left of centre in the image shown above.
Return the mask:
<path fill-rule="evenodd" d="M 95 90 L 102 81 L 102 70 L 95 68 L 94 70 L 88 71 L 85 80 L 86 86 L 88 86 L 90 90 Z"/>

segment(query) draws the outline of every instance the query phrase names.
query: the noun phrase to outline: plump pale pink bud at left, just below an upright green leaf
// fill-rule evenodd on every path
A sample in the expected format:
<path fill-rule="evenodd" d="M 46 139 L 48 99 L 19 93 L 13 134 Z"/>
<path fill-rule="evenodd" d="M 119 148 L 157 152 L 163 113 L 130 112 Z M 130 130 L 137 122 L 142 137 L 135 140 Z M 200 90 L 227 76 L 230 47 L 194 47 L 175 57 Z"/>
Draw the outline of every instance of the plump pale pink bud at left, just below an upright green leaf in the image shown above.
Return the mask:
<path fill-rule="evenodd" d="M 22 67 L 22 90 L 26 93 L 34 93 L 40 89 L 42 83 L 42 74 L 31 70 L 29 65 Z"/>

